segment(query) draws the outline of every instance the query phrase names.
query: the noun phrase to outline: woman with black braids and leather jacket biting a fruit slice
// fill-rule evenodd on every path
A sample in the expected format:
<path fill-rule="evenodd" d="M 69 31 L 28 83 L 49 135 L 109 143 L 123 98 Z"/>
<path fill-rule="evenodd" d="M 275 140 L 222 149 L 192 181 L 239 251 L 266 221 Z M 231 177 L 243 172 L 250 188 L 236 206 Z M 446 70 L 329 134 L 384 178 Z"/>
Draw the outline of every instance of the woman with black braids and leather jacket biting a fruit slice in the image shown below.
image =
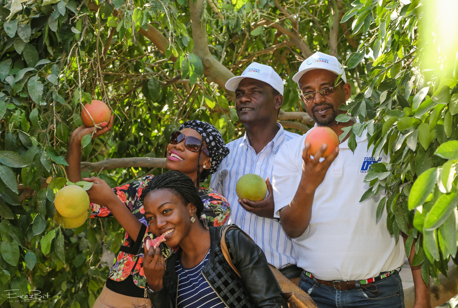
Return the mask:
<path fill-rule="evenodd" d="M 211 226 L 208 230 L 194 219 L 204 206 L 193 188 L 189 176 L 169 171 L 155 176 L 143 189 L 145 218 L 157 240 L 164 241 L 149 250 L 145 244 L 143 270 L 152 306 L 287 308 L 256 243 L 237 227 Z M 222 236 L 234 269 L 224 258 Z M 177 247 L 177 253 L 165 253 L 164 258 L 169 247 Z"/>

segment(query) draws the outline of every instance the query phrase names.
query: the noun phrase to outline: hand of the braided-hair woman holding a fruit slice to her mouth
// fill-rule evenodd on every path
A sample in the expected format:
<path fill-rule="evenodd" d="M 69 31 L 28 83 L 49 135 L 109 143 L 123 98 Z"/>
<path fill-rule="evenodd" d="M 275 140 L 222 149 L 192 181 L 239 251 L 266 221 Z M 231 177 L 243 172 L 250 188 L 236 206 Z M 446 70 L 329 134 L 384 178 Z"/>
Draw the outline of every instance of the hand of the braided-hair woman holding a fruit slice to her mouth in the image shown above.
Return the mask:
<path fill-rule="evenodd" d="M 161 255 L 159 247 L 150 247 L 152 249 L 148 250 L 146 243 L 143 245 L 145 249 L 143 271 L 145 272 L 146 282 L 151 290 L 158 291 L 163 287 L 162 278 L 165 273 L 165 259 Z"/>

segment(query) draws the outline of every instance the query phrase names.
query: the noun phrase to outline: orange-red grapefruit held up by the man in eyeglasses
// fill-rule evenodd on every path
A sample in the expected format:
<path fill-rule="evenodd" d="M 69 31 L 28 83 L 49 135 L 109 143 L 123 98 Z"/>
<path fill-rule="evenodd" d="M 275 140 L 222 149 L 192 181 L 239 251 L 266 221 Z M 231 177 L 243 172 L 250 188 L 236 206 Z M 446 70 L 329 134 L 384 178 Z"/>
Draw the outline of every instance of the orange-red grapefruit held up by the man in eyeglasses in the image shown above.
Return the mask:
<path fill-rule="evenodd" d="M 322 157 L 328 157 L 338 148 L 339 137 L 337 137 L 337 134 L 327 126 L 316 126 L 307 133 L 304 144 L 307 142 L 310 143 L 309 154 L 312 156 L 315 156 L 316 152 L 326 143 L 327 148 Z"/>

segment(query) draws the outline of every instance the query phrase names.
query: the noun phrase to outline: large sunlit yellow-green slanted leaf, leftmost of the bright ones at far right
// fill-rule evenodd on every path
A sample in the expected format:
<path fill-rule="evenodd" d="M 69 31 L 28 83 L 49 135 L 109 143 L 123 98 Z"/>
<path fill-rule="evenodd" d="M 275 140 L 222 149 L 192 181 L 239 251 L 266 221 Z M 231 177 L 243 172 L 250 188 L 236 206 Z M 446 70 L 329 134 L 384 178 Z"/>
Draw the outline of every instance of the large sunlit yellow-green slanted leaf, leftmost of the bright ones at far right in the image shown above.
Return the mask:
<path fill-rule="evenodd" d="M 437 168 L 430 168 L 414 181 L 409 194 L 409 209 L 414 209 L 425 203 L 426 198 L 436 185 L 437 173 Z"/>

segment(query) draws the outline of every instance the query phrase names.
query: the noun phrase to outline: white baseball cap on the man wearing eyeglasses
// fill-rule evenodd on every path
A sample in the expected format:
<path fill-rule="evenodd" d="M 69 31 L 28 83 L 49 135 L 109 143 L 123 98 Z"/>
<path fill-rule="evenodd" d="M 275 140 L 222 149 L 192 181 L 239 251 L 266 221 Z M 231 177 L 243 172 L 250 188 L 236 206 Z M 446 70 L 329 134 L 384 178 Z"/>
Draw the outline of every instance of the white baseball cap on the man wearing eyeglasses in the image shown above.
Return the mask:
<path fill-rule="evenodd" d="M 299 71 L 293 76 L 293 81 L 299 82 L 300 77 L 302 77 L 302 75 L 304 75 L 307 71 L 316 69 L 332 71 L 333 73 L 336 73 L 337 76 L 342 75 L 341 78 L 344 82 L 347 82 L 344 67 L 340 64 L 339 60 L 332 55 L 323 54 L 319 51 L 302 62 L 299 66 Z"/>

